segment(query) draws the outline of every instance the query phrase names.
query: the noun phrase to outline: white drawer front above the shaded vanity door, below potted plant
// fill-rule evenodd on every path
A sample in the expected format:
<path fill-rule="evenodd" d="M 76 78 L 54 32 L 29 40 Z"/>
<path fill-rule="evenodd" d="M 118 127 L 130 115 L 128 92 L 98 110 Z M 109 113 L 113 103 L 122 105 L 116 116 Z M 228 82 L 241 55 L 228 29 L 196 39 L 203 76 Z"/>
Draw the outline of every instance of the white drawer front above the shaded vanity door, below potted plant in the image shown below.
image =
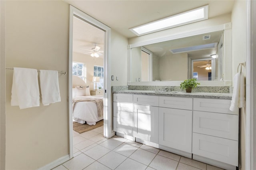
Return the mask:
<path fill-rule="evenodd" d="M 159 97 L 159 107 L 168 107 L 173 109 L 192 110 L 192 98 L 184 97 Z"/>

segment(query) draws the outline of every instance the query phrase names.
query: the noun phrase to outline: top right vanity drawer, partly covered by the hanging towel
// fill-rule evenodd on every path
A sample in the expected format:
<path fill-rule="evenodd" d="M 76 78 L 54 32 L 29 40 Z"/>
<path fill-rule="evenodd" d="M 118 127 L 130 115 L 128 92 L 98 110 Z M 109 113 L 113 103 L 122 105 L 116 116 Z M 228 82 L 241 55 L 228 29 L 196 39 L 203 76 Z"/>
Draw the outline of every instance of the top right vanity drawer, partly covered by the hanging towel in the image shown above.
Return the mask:
<path fill-rule="evenodd" d="M 230 103 L 231 100 L 194 98 L 193 110 L 238 115 L 238 108 L 234 112 L 229 110 Z"/>

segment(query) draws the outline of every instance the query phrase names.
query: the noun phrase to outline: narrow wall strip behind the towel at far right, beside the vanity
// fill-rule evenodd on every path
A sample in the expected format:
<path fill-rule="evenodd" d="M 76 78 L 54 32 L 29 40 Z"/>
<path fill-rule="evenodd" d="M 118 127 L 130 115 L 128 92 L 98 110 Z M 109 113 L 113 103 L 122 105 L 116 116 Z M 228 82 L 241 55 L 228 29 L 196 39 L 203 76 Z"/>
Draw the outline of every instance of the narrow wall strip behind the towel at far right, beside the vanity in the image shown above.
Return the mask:
<path fill-rule="evenodd" d="M 246 1 L 235 1 L 232 10 L 232 77 L 239 63 L 246 61 Z M 246 70 L 242 69 L 244 75 Z M 245 170 L 245 124 L 244 110 L 240 113 L 239 164 Z"/>

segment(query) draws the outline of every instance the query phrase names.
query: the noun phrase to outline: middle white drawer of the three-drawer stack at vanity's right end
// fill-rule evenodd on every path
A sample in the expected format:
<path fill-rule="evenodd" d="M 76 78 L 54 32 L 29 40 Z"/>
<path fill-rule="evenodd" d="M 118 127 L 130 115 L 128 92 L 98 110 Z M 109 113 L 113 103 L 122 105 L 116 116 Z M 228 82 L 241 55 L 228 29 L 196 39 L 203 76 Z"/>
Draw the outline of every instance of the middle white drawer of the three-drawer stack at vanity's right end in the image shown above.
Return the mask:
<path fill-rule="evenodd" d="M 238 115 L 193 112 L 193 132 L 238 140 Z"/>

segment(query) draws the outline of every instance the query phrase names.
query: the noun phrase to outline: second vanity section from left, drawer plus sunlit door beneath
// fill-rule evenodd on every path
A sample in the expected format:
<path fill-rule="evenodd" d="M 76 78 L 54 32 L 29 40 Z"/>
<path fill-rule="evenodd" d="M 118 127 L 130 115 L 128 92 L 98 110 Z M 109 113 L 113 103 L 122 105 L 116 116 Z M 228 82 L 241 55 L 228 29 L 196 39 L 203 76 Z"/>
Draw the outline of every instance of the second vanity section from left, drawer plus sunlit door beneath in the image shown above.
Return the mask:
<path fill-rule="evenodd" d="M 158 144 L 158 96 L 134 95 L 133 136 Z"/>

